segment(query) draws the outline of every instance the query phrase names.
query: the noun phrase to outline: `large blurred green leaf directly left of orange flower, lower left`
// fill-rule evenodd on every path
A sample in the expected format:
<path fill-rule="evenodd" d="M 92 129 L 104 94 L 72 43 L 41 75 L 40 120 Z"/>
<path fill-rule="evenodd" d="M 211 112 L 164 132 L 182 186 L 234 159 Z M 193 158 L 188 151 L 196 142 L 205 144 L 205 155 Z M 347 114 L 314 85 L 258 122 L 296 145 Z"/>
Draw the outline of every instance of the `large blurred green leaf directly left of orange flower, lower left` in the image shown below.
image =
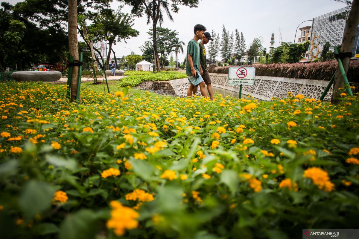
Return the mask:
<path fill-rule="evenodd" d="M 19 206 L 27 220 L 51 206 L 55 188 L 46 182 L 29 181 L 19 197 Z"/>

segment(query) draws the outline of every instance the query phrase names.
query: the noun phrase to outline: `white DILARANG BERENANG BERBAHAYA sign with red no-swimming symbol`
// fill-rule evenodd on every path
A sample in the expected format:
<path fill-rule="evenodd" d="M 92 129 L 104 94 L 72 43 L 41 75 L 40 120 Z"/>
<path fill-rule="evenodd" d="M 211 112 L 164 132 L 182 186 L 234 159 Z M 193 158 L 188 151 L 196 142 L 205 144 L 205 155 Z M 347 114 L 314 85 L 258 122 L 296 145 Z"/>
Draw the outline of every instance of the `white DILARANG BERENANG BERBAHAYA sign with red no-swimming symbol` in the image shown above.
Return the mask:
<path fill-rule="evenodd" d="M 256 80 L 256 67 L 229 67 L 229 85 L 254 85 Z"/>

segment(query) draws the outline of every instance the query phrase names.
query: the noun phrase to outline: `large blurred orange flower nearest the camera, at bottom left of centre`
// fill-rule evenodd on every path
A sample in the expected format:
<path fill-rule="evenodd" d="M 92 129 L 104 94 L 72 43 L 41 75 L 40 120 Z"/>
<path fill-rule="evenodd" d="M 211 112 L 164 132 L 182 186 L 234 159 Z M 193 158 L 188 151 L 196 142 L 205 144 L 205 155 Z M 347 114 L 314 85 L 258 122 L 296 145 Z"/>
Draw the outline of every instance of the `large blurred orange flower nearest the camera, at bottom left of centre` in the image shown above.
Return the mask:
<path fill-rule="evenodd" d="M 119 91 L 118 91 L 119 92 Z M 118 201 L 111 201 L 112 207 L 111 218 L 107 221 L 108 229 L 114 229 L 113 232 L 117 236 L 122 236 L 126 229 L 134 229 L 138 226 L 139 213 L 130 207 L 122 206 Z"/>

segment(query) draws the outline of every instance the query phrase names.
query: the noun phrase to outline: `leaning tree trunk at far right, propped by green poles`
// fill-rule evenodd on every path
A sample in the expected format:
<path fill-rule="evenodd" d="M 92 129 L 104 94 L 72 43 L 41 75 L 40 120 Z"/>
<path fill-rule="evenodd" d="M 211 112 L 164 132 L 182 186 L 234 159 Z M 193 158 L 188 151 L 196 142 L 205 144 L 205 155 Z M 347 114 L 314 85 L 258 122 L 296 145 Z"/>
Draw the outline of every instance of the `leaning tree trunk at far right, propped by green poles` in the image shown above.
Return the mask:
<path fill-rule="evenodd" d="M 353 50 L 353 44 L 355 40 L 356 28 L 359 23 L 359 0 L 353 0 L 351 4 L 351 10 L 348 16 L 348 20 L 346 22 L 346 27 L 344 30 L 344 36 L 341 44 L 340 52 L 351 52 Z M 350 57 L 344 57 L 341 59 L 343 63 L 343 68 L 345 74 L 348 73 L 348 68 L 350 64 Z M 332 104 L 339 104 L 340 100 L 338 99 L 340 96 L 340 91 L 338 90 L 340 87 L 344 85 L 344 78 L 340 73 L 339 65 L 337 67 L 337 71 L 334 77 L 334 85 L 333 85 L 333 95 L 331 98 Z"/>

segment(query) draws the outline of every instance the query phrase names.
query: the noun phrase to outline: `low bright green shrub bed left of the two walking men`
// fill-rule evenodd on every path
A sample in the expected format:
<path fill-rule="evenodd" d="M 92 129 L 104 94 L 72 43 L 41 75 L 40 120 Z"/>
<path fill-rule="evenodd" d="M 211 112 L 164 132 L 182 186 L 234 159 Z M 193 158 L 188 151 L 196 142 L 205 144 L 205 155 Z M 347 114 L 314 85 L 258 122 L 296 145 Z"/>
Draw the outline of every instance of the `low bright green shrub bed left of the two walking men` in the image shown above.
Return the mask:
<path fill-rule="evenodd" d="M 138 72 L 138 74 L 137 74 Z M 143 73 L 145 72 L 145 73 Z M 125 74 L 126 75 L 126 74 Z M 123 77 L 120 83 L 121 87 L 131 86 L 135 87 L 144 81 L 170 81 L 181 78 L 186 78 L 186 73 L 181 72 L 169 72 L 169 71 L 161 71 L 158 73 L 152 73 L 148 71 L 134 71 L 131 72 L 129 76 Z"/>

